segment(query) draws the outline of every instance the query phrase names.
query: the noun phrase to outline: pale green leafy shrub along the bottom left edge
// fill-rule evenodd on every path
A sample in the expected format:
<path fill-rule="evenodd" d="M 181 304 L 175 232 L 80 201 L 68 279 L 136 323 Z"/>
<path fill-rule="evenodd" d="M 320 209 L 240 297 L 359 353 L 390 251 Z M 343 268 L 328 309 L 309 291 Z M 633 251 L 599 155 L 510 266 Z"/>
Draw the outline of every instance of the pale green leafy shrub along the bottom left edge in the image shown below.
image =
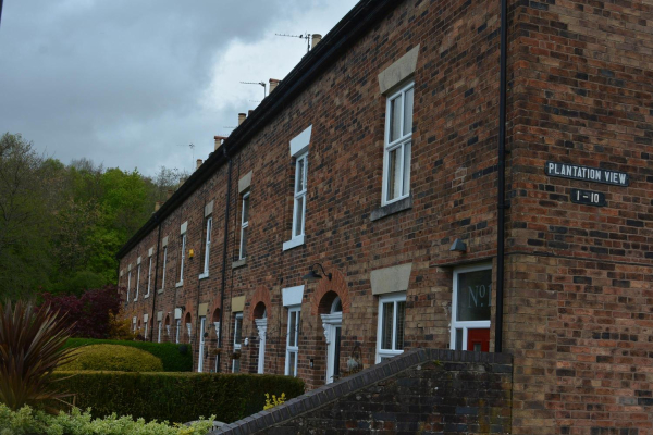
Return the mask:
<path fill-rule="evenodd" d="M 212 425 L 212 417 L 185 427 L 178 424 L 171 426 L 168 422 L 134 421 L 131 417 L 118 418 L 115 414 L 94 420 L 88 411 L 82 412 L 78 408 L 73 408 L 70 414 L 61 412 L 59 415 L 34 411 L 29 407 L 13 412 L 0 403 L 0 434 L 2 435 L 204 435 Z"/>

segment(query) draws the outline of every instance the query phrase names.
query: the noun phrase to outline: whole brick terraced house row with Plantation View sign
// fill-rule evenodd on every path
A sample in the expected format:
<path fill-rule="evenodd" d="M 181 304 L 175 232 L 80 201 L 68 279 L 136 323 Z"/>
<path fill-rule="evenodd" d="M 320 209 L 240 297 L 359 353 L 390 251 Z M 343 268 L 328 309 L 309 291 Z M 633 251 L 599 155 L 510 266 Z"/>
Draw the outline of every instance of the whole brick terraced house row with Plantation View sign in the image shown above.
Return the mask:
<path fill-rule="evenodd" d="M 504 5 L 361 0 L 118 253 L 134 327 L 309 388 L 507 352 L 514 434 L 653 434 L 653 3 Z"/>

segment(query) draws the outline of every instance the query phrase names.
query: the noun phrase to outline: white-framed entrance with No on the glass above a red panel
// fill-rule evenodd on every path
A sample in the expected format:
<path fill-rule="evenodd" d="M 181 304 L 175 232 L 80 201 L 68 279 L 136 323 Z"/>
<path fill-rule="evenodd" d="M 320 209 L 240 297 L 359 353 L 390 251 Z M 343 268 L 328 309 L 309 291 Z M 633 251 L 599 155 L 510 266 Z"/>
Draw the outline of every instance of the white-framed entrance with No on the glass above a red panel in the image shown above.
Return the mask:
<path fill-rule="evenodd" d="M 490 351 L 492 265 L 454 270 L 451 348 Z"/>

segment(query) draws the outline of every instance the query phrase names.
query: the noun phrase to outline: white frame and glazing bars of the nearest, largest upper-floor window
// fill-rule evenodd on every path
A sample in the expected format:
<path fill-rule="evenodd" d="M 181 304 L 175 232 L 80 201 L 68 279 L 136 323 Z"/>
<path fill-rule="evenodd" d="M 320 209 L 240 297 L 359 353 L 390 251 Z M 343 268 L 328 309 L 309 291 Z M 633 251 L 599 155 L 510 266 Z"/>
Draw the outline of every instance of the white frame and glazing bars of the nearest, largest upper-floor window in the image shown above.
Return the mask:
<path fill-rule="evenodd" d="M 385 135 L 383 138 L 383 188 L 382 190 L 382 200 L 381 203 L 383 206 L 392 203 L 392 202 L 396 202 L 399 201 L 404 198 L 407 198 L 410 196 L 410 164 L 408 165 L 408 188 L 406 189 L 406 194 L 404 194 L 404 182 L 406 179 L 405 174 L 404 174 L 404 170 L 405 170 L 405 164 L 404 164 L 404 158 L 406 156 L 405 152 L 405 147 L 406 145 L 411 145 L 412 144 L 412 128 L 410 129 L 410 132 L 404 132 L 404 111 L 406 109 L 406 98 L 405 95 L 408 90 L 412 89 L 412 108 L 415 108 L 415 82 L 411 82 L 409 84 L 407 84 L 406 86 L 404 86 L 402 89 L 397 90 L 395 94 L 391 95 L 390 97 L 387 97 L 386 100 L 386 108 L 385 108 Z M 391 130 L 390 130 L 390 126 L 391 126 L 391 122 L 392 122 L 392 113 L 391 113 L 391 102 L 397 98 L 397 97 L 402 97 L 402 115 L 401 115 L 401 120 L 402 120 L 402 125 L 401 125 L 401 135 L 397 139 L 391 141 L 390 140 L 390 135 L 391 135 Z M 415 113 L 415 110 L 412 110 L 412 113 Z M 399 153 L 401 153 L 401 158 L 402 158 L 402 162 L 399 164 L 401 167 L 401 174 L 399 174 L 399 179 L 401 179 L 401 186 L 399 186 L 399 195 L 395 198 L 389 199 L 387 198 L 387 183 L 389 183 L 389 175 L 390 175 L 390 153 L 396 149 L 401 149 Z M 412 148 L 410 150 L 410 154 L 412 156 Z"/>

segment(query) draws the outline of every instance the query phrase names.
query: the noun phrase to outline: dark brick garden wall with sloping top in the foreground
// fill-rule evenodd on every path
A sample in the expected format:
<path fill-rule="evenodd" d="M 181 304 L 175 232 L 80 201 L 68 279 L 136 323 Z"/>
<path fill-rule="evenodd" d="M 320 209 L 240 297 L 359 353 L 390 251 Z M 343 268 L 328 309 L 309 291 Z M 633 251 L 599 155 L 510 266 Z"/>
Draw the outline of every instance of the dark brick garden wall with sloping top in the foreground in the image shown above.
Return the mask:
<path fill-rule="evenodd" d="M 416 349 L 213 434 L 510 433 L 512 357 Z"/>

